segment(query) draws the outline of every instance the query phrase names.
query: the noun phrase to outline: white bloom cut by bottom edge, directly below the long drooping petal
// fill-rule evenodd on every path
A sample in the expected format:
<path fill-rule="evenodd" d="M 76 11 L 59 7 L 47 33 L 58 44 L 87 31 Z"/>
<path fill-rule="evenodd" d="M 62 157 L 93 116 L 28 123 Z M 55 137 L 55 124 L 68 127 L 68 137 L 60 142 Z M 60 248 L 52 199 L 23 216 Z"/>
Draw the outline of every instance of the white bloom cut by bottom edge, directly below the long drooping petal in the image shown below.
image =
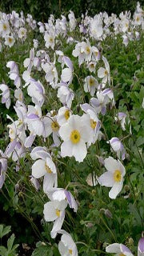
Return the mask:
<path fill-rule="evenodd" d="M 61 241 L 58 243 L 58 250 L 62 256 L 78 256 L 77 246 L 70 234 L 61 230 L 58 233 L 63 233 Z"/>

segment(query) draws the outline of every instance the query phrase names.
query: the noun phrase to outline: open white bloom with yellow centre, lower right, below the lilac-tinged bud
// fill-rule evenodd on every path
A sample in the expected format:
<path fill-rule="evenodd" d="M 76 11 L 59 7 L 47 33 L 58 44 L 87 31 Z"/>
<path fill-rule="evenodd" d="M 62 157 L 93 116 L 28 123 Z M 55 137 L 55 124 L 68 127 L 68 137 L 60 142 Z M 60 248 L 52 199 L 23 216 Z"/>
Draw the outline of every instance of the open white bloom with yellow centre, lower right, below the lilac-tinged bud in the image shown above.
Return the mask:
<path fill-rule="evenodd" d="M 106 158 L 104 163 L 107 171 L 98 178 L 98 182 L 102 186 L 112 187 L 109 197 L 115 199 L 122 190 L 126 170 L 119 160 L 112 157 Z"/>

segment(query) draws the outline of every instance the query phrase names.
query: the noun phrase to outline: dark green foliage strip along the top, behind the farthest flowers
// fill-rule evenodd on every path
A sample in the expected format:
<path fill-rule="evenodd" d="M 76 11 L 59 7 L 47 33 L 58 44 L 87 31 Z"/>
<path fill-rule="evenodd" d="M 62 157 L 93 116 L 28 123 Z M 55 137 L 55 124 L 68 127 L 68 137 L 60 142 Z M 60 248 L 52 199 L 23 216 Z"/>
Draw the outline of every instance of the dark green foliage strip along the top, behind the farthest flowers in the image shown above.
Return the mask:
<path fill-rule="evenodd" d="M 137 2 L 137 0 L 1 0 L 0 10 L 6 13 L 23 10 L 24 14 L 32 14 L 37 21 L 46 22 L 50 14 L 58 18 L 60 14 L 66 14 L 69 10 L 73 10 L 76 17 L 86 10 L 90 15 L 105 10 L 108 14 L 120 14 L 125 10 L 133 13 Z M 143 5 L 143 0 L 139 2 Z"/>

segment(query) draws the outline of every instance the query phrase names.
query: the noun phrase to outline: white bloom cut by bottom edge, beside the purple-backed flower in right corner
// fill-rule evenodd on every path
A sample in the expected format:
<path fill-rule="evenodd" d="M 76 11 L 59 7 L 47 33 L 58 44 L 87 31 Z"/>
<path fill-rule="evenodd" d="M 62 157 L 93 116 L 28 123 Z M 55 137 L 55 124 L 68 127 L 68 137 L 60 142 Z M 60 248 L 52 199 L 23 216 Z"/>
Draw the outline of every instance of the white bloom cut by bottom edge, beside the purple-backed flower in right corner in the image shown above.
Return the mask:
<path fill-rule="evenodd" d="M 113 243 L 110 246 L 106 246 L 106 252 L 116 256 L 134 256 L 130 249 L 122 245 L 122 243 Z"/>

